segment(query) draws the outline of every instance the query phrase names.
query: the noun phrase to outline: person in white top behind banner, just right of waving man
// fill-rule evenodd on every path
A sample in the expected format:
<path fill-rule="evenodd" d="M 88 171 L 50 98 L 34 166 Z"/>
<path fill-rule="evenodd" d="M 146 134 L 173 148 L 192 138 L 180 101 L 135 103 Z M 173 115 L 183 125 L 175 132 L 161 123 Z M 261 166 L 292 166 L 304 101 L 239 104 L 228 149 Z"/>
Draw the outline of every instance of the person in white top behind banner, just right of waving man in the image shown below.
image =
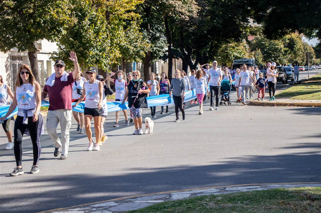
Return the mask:
<path fill-rule="evenodd" d="M 83 84 L 86 81 L 87 80 L 82 76 L 82 73 L 80 73 L 80 75 L 77 76 L 76 80 L 73 83 L 73 95 L 72 95 L 72 100 L 71 100 L 72 102 L 77 102 L 78 101 L 78 99 L 82 95 Z M 79 114 L 79 116 L 78 116 L 78 114 Z M 83 124 L 84 124 L 83 113 L 73 111 L 73 115 L 74 115 L 74 118 L 75 118 L 75 120 L 77 122 L 77 132 L 83 134 L 84 133 L 84 131 L 82 129 L 83 128 Z"/>

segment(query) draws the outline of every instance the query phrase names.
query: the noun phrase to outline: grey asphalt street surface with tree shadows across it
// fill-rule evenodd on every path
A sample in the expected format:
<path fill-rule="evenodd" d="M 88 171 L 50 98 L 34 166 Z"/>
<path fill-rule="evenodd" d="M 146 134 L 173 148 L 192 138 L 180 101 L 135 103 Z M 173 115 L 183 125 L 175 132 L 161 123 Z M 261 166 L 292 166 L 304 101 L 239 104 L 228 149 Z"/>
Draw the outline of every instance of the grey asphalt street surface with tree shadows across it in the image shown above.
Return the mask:
<path fill-rule="evenodd" d="M 1 128 L 0 211 L 39 212 L 221 185 L 321 182 L 320 107 L 241 106 L 235 100 L 232 91 L 232 105 L 218 111 L 209 111 L 206 100 L 202 115 L 198 106 L 188 103 L 186 120 L 178 123 L 173 122 L 173 107 L 163 115 L 157 107 L 151 135 L 132 135 L 134 124 L 125 126 L 122 113 L 120 126 L 113 128 L 115 113 L 110 113 L 104 125 L 108 140 L 100 151 L 86 151 L 88 139 L 76 132 L 73 120 L 66 160 L 53 156 L 46 132 L 40 137 L 37 174 L 29 174 L 32 146 L 24 136 L 25 174 L 17 177 L 8 175 L 15 159 L 13 150 L 4 150 L 7 139 Z M 143 110 L 146 116 L 150 109 Z M 13 130 L 13 122 L 11 126 Z"/>

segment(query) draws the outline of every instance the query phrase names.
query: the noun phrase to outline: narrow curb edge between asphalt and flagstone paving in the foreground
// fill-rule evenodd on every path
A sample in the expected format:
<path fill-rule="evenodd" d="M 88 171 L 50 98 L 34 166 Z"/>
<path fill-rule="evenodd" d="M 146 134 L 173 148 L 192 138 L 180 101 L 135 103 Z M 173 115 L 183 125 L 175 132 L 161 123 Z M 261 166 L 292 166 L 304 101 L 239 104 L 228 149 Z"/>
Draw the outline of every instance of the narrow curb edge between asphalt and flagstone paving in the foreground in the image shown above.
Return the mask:
<path fill-rule="evenodd" d="M 167 192 L 158 192 L 158 193 L 149 193 L 149 194 L 140 194 L 140 195 L 133 195 L 133 196 L 127 196 L 127 197 L 120 197 L 120 198 L 115 198 L 111 200 L 105 200 L 105 201 L 98 201 L 98 202 L 92 202 L 92 203 L 85 203 L 81 205 L 75 205 L 71 207 L 65 207 L 65 208 L 58 208 L 58 209 L 52 209 L 52 210 L 47 210 L 47 211 L 42 211 L 39 213 L 49 213 L 49 212 L 64 212 L 63 210 L 67 210 L 66 212 L 72 212 L 70 210 L 75 210 L 71 208 L 80 208 L 80 207 L 86 207 L 86 206 L 92 206 L 95 204 L 100 204 L 100 203 L 106 203 L 106 202 L 113 202 L 113 201 L 124 201 L 128 199 L 135 199 L 135 198 L 140 198 L 140 197 L 146 197 L 146 196 L 153 196 L 153 195 L 161 195 L 161 194 L 171 194 L 171 193 L 184 193 L 184 192 L 189 192 L 189 191 L 196 191 L 196 190 L 210 190 L 210 189 L 221 189 L 221 188 L 229 188 L 229 187 L 248 187 L 248 186 L 260 186 L 264 187 L 267 185 L 288 185 L 286 186 L 287 188 L 291 187 L 291 185 L 304 185 L 304 184 L 320 184 L 321 187 L 321 182 L 297 182 L 297 183 L 265 183 L 265 184 L 246 184 L 246 185 L 226 185 L 226 186 L 212 186 L 212 187 L 204 187 L 204 188 L 193 188 L 193 189 L 182 189 L 182 190 L 176 190 L 176 191 L 167 191 Z M 304 187 L 304 186 L 302 186 Z M 275 187 L 274 187 L 275 188 Z M 276 188 L 282 188 L 276 187 Z M 108 212 L 108 211 L 107 211 Z"/>

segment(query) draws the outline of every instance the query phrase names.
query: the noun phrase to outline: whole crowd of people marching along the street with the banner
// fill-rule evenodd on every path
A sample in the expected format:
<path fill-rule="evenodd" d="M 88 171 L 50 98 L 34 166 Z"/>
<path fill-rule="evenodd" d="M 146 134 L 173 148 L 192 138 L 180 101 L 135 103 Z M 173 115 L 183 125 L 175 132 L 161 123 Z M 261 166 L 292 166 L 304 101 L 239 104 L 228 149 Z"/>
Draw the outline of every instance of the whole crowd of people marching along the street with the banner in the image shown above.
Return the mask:
<path fill-rule="evenodd" d="M 228 67 L 217 67 L 217 61 L 213 61 L 212 67 L 209 64 L 201 65 L 198 70 L 192 70 L 191 76 L 187 77 L 183 70 L 175 70 L 174 78 L 170 81 L 165 72 L 161 73 L 160 82 L 156 80 L 154 73 L 150 74 L 150 80 L 144 82 L 140 79 L 139 70 L 127 74 L 125 80 L 124 72 L 117 71 L 117 78 L 112 79 L 111 73 L 106 79 L 102 75 L 97 75 L 94 67 L 86 70 L 88 81 L 82 76 L 75 52 L 70 52 L 70 60 L 74 63 L 74 70 L 70 73 L 65 71 L 65 62 L 56 60 L 54 69 L 55 73 L 50 75 L 45 83 L 43 91 L 38 82 L 36 82 L 31 69 L 27 65 L 22 65 L 18 71 L 18 78 L 15 83 L 14 93 L 11 88 L 3 82 L 1 77 L 0 83 L 0 106 L 10 105 L 9 97 L 12 99 L 8 112 L 4 117 L 0 118 L 4 131 L 8 138 L 6 150 L 14 149 L 16 159 L 16 167 L 12 176 L 24 173 L 22 169 L 22 136 L 30 135 L 33 147 L 33 165 L 30 173 L 38 173 L 38 163 L 41 154 L 40 135 L 44 132 L 43 118 L 40 114 L 41 100 L 49 96 L 49 108 L 46 121 L 46 129 L 49 137 L 55 146 L 54 156 L 60 153 L 60 159 L 67 159 L 69 148 L 69 130 L 71 127 L 72 116 L 77 122 L 77 132 L 84 133 L 83 127 L 89 145 L 88 151 L 99 151 L 100 146 L 106 141 L 107 136 L 104 133 L 103 124 L 107 117 L 106 96 L 110 92 L 110 88 L 105 81 L 111 81 L 115 84 L 116 100 L 123 105 L 128 101 L 130 109 L 130 119 L 128 120 L 126 109 L 122 110 L 125 116 L 125 125 L 134 122 L 134 135 L 143 134 L 142 129 L 142 108 L 148 108 L 147 97 L 155 95 L 165 95 L 172 97 L 175 105 L 176 119 L 179 122 L 179 111 L 182 114 L 182 120 L 186 119 L 184 101 L 186 92 L 195 89 L 196 99 L 191 100 L 190 104 L 199 104 L 199 115 L 203 114 L 203 102 L 206 101 L 206 94 L 210 99 L 209 110 L 219 110 L 220 87 L 222 81 L 229 83 L 234 82 L 237 91 L 236 102 L 246 105 L 247 99 L 253 98 L 253 93 L 258 91 L 258 99 L 264 99 L 265 89 L 269 88 L 270 100 L 275 100 L 275 84 L 278 76 L 275 63 L 268 63 L 266 76 L 260 72 L 257 67 L 247 67 L 242 65 L 239 69 L 231 70 Z M 111 91 L 112 93 L 112 91 Z M 215 101 L 214 101 L 215 99 Z M 223 100 L 229 99 L 229 96 L 223 95 Z M 84 112 L 72 111 L 73 107 L 79 105 L 83 100 Z M 74 102 L 74 106 L 72 106 Z M 14 123 L 14 141 L 12 141 L 12 132 L 9 128 L 11 118 L 7 117 L 18 107 L 17 118 Z M 150 107 L 152 118 L 156 117 L 156 106 Z M 169 113 L 169 108 L 161 106 L 160 114 Z M 91 121 L 94 120 L 95 138 L 92 137 Z M 119 111 L 116 112 L 116 122 L 114 127 L 118 127 Z M 61 138 L 57 134 L 57 126 L 61 127 Z"/>

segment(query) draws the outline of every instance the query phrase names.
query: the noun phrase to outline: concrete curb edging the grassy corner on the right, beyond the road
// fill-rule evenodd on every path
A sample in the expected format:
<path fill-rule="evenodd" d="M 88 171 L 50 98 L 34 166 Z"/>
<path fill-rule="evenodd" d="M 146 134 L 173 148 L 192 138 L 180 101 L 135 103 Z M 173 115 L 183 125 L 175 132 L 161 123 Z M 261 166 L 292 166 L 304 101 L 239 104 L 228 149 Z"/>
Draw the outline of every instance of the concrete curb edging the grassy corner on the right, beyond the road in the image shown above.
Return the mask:
<path fill-rule="evenodd" d="M 321 107 L 321 101 L 319 102 L 286 102 L 286 101 L 256 101 L 251 100 L 249 102 L 251 106 L 312 106 Z"/>

